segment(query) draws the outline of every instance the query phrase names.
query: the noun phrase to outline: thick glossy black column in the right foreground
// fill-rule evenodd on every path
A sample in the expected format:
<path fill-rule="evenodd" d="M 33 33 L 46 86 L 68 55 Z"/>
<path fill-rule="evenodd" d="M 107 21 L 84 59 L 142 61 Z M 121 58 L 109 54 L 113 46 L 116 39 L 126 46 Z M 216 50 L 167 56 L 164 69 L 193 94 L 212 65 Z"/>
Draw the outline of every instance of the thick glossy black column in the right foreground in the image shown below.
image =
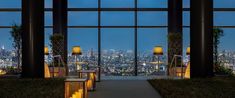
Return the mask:
<path fill-rule="evenodd" d="M 191 0 L 191 77 L 213 76 L 213 0 Z"/>

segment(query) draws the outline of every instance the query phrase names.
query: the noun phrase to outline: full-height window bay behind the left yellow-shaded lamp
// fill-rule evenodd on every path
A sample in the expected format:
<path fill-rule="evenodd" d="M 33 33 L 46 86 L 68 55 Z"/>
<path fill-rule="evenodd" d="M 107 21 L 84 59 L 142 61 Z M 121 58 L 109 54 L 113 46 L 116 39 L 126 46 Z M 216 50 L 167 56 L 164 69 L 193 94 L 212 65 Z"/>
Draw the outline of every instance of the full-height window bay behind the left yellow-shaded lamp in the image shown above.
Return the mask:
<path fill-rule="evenodd" d="M 75 70 L 72 48 L 80 46 L 82 55 L 77 55 L 83 68 L 98 68 L 98 0 L 68 0 L 68 65 Z"/>

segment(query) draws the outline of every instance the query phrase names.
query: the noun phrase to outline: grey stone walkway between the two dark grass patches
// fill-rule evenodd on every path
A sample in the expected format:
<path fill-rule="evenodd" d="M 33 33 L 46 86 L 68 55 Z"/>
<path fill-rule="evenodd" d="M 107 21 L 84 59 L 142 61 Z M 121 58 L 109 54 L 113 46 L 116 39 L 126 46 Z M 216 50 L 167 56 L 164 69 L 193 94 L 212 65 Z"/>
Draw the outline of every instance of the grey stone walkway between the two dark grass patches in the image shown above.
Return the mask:
<path fill-rule="evenodd" d="M 104 80 L 88 98 L 161 98 L 146 80 Z"/>

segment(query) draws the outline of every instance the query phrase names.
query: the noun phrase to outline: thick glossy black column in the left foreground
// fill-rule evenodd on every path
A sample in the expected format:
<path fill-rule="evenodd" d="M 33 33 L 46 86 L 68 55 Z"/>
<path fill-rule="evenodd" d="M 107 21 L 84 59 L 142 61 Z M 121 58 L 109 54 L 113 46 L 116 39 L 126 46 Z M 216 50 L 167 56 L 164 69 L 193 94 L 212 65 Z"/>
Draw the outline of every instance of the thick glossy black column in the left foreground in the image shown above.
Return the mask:
<path fill-rule="evenodd" d="M 44 78 L 44 0 L 22 0 L 22 77 Z"/>

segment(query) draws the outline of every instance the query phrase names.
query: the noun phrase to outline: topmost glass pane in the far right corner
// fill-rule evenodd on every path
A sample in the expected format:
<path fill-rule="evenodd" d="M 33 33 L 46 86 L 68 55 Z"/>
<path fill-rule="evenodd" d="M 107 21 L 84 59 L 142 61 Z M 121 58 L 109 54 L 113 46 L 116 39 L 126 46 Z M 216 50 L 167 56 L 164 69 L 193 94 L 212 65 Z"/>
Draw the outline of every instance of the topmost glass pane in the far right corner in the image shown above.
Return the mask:
<path fill-rule="evenodd" d="M 235 0 L 214 0 L 214 8 L 235 8 Z"/>

